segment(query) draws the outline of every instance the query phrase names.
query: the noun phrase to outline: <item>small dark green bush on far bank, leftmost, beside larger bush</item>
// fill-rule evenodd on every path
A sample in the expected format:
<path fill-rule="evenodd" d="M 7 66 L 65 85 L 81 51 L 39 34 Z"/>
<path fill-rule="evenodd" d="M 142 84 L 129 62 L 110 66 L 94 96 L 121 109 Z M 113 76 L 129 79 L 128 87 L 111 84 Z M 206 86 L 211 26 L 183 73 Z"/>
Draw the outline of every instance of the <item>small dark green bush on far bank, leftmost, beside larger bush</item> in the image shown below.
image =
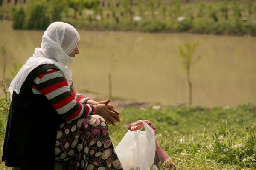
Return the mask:
<path fill-rule="evenodd" d="M 25 11 L 23 6 L 17 6 L 14 10 L 13 19 L 12 19 L 12 28 L 13 29 L 23 29 L 23 24 L 25 21 Z"/>

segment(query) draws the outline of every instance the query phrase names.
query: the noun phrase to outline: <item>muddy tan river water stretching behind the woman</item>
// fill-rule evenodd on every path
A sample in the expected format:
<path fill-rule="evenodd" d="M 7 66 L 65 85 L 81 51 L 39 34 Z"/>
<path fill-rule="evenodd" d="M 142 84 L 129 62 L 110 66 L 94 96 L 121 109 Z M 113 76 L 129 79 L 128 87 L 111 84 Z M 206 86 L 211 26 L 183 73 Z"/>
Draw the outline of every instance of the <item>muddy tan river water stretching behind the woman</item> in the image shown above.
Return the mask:
<path fill-rule="evenodd" d="M 78 30 L 80 54 L 68 65 L 77 90 L 109 94 L 138 102 L 188 104 L 189 88 L 178 45 L 199 45 L 191 68 L 192 105 L 213 107 L 251 102 L 256 104 L 256 37 L 202 34 L 151 34 L 137 32 Z M 7 82 L 13 78 L 13 62 L 24 64 L 41 46 L 44 31 L 12 30 L 11 22 L 0 21 L 0 44 L 7 53 Z M 3 56 L 0 55 L 0 79 Z M 112 66 L 111 66 L 112 65 Z"/>

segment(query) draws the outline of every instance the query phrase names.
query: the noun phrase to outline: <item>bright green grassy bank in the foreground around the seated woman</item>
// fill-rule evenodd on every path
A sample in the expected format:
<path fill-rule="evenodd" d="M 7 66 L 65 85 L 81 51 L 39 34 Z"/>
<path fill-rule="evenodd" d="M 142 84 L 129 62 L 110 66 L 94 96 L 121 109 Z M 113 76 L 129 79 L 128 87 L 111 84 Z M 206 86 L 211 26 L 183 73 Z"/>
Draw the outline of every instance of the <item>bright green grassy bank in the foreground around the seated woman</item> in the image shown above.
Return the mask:
<path fill-rule="evenodd" d="M 7 97 L 7 98 L 6 98 Z M 9 100 L 0 97 L 0 146 L 6 127 Z M 236 108 L 156 107 L 125 108 L 121 122 L 110 126 L 113 144 L 121 141 L 126 126 L 139 119 L 150 120 L 158 131 L 160 146 L 179 170 L 255 170 L 256 107 L 250 103 Z M 0 163 L 0 169 L 11 170 Z"/>

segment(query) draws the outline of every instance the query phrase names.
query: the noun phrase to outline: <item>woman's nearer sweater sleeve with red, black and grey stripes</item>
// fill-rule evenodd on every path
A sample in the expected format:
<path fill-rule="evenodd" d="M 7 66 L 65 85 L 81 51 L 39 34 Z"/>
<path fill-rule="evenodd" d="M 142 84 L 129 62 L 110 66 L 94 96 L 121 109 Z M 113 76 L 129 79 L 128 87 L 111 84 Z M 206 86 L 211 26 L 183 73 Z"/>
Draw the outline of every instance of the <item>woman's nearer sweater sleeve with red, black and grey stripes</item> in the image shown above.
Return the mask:
<path fill-rule="evenodd" d="M 59 115 L 66 120 L 75 120 L 93 114 L 94 107 L 77 100 L 73 83 L 68 84 L 61 71 L 50 69 L 35 78 L 32 91 L 35 95 L 43 94 Z"/>

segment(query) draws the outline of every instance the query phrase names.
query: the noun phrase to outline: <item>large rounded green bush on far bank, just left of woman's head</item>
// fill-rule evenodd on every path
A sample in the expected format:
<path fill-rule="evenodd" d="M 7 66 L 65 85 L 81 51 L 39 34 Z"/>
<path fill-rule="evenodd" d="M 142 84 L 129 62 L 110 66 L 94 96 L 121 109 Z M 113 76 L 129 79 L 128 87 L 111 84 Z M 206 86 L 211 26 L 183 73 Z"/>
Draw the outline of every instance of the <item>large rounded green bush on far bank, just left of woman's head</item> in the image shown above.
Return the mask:
<path fill-rule="evenodd" d="M 25 29 L 45 30 L 50 24 L 46 0 L 30 0 L 26 4 Z"/>

